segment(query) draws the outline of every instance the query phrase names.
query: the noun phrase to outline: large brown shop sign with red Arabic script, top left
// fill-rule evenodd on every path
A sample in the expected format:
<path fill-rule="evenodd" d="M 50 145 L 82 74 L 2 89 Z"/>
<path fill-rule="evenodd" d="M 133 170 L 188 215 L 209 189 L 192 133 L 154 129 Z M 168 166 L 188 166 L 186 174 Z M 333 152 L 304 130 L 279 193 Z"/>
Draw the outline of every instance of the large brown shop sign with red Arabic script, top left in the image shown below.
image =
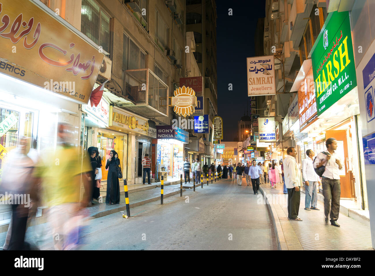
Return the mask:
<path fill-rule="evenodd" d="M 104 54 L 54 14 L 30 0 L 0 0 L 0 72 L 87 104 Z"/>

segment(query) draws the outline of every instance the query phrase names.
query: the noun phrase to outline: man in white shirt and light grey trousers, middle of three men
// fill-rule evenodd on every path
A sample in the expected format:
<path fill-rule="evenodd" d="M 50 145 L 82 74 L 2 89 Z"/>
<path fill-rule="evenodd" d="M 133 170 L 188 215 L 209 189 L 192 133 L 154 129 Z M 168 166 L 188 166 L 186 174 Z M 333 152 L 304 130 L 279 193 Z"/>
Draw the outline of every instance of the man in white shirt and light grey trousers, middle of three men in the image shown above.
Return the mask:
<path fill-rule="evenodd" d="M 308 157 L 302 161 L 302 175 L 306 185 L 305 210 L 319 210 L 317 208 L 317 185 L 320 178 L 313 166 L 314 151 L 306 150 L 306 156 Z"/>

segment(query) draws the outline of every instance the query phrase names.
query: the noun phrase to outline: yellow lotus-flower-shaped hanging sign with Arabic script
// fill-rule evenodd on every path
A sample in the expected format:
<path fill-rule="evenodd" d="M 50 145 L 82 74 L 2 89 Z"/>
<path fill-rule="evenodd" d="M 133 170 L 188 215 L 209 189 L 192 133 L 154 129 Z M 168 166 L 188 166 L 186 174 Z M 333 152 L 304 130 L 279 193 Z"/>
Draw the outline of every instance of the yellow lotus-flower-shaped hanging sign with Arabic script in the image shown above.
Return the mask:
<path fill-rule="evenodd" d="M 195 92 L 190 87 L 178 87 L 173 92 L 174 97 L 171 99 L 173 111 L 182 117 L 190 116 L 194 113 L 196 106 Z"/>

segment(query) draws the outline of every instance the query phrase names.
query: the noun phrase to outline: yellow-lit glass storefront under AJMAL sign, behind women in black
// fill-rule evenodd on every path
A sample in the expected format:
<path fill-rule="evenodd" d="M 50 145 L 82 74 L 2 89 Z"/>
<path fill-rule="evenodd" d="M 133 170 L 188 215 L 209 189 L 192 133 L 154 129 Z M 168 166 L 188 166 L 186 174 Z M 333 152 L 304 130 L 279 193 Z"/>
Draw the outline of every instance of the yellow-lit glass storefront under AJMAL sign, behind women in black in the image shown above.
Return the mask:
<path fill-rule="evenodd" d="M 107 160 L 110 158 L 111 150 L 115 150 L 120 159 L 120 166 L 123 170 L 123 178 L 127 177 L 127 166 L 124 164 L 127 160 L 127 134 L 108 132 L 105 129 L 98 130 L 98 142 L 97 147 L 99 155 L 102 158 L 102 180 L 107 180 L 108 169 L 105 169 Z"/>

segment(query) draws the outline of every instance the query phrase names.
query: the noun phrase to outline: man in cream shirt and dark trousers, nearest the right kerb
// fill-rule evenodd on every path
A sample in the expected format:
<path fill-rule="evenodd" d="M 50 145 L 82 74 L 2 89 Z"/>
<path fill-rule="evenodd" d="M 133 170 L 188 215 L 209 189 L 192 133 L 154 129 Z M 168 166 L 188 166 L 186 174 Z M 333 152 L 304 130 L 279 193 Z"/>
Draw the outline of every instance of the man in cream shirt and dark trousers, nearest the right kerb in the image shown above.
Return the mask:
<path fill-rule="evenodd" d="M 291 220 L 302 221 L 298 217 L 301 199 L 301 172 L 296 162 L 297 150 L 294 147 L 287 149 L 287 157 L 285 157 L 284 165 L 284 178 L 285 186 L 288 189 L 288 218 Z"/>

